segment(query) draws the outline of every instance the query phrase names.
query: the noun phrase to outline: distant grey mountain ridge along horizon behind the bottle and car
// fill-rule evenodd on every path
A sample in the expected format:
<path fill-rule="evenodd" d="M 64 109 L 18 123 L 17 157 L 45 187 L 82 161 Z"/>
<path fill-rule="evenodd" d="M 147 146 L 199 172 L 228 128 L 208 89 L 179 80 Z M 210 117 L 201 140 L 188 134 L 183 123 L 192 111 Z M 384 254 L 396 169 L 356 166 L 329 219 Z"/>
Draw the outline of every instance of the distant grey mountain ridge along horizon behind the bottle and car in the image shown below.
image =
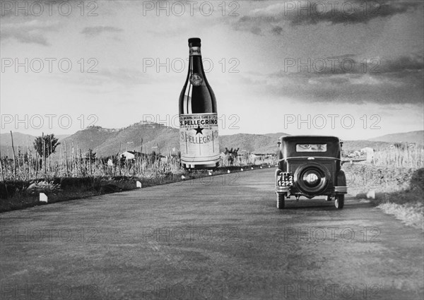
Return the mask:
<path fill-rule="evenodd" d="M 57 147 L 54 157 L 64 156 L 65 150 L 67 155 L 71 155 L 71 149 L 74 153 L 88 152 L 89 149 L 96 153 L 97 157 L 105 157 L 122 153 L 126 150 L 135 150 L 138 152 L 171 152 L 173 148 L 179 149 L 177 128 L 167 127 L 163 124 L 155 124 L 149 122 L 140 122 L 127 126 L 125 128 L 102 128 L 100 126 L 92 126 L 81 131 L 77 131 L 71 136 L 57 136 L 61 143 Z M 392 142 L 385 140 L 399 140 L 399 137 L 416 140 L 416 143 L 423 143 L 417 136 L 423 134 L 423 131 L 413 131 L 411 133 L 396 133 L 392 135 L 372 138 L 370 140 L 345 140 L 343 149 L 346 151 L 360 150 L 365 147 L 375 148 L 376 150 L 387 148 Z M 237 133 L 230 136 L 220 136 L 220 151 L 225 148 L 239 148 L 239 153 L 274 153 L 277 149 L 277 140 L 280 136 L 289 136 L 288 133 L 266 133 L 266 134 L 249 134 Z M 27 149 L 33 150 L 33 141 L 35 136 L 23 133 L 13 133 L 13 143 L 15 151 L 18 148 L 23 152 Z M 420 142 L 421 141 L 421 142 Z M 0 150 L 1 156 L 13 154 L 11 149 L 10 133 L 0 134 Z"/>

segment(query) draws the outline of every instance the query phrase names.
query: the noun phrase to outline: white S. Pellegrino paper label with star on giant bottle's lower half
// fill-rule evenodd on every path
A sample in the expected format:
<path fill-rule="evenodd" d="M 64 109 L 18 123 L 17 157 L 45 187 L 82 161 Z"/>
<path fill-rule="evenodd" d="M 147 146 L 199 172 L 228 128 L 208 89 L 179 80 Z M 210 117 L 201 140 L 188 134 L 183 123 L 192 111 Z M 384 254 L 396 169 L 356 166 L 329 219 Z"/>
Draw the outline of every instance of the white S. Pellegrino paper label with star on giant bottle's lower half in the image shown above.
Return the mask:
<path fill-rule="evenodd" d="M 218 162 L 218 114 L 180 114 L 179 145 L 182 163 Z"/>

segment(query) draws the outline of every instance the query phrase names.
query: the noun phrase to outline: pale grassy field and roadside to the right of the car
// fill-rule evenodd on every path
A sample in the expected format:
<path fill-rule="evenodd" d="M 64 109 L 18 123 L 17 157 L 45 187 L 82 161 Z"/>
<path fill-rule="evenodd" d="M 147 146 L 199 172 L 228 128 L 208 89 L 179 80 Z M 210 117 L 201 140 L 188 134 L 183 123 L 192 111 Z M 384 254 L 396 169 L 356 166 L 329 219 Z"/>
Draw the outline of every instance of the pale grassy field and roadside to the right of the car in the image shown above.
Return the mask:
<path fill-rule="evenodd" d="M 343 165 L 350 193 L 412 227 L 424 230 L 424 150 L 375 152 L 373 163 Z"/>

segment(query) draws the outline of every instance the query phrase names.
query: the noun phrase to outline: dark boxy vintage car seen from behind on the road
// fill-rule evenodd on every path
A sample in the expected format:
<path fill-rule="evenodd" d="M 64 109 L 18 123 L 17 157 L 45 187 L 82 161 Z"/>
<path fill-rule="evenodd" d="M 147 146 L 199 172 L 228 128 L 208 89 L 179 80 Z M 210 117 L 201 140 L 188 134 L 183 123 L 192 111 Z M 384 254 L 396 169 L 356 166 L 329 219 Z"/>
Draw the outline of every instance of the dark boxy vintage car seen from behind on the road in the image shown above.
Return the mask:
<path fill-rule="evenodd" d="M 276 169 L 277 208 L 285 198 L 326 196 L 336 208 L 344 205 L 348 193 L 341 170 L 341 141 L 335 136 L 282 136 L 278 140 Z"/>

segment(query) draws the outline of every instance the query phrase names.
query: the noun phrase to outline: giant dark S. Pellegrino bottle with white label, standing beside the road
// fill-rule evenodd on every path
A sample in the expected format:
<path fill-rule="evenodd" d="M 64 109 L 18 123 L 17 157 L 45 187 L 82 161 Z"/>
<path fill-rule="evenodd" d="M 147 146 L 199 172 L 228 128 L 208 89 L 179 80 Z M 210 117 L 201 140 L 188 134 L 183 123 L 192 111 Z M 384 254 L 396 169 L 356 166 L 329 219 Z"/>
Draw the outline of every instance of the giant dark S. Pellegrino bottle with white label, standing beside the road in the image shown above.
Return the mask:
<path fill-rule="evenodd" d="M 216 99 L 206 80 L 200 39 L 189 39 L 189 70 L 179 95 L 179 143 L 182 166 L 211 169 L 219 165 Z"/>

